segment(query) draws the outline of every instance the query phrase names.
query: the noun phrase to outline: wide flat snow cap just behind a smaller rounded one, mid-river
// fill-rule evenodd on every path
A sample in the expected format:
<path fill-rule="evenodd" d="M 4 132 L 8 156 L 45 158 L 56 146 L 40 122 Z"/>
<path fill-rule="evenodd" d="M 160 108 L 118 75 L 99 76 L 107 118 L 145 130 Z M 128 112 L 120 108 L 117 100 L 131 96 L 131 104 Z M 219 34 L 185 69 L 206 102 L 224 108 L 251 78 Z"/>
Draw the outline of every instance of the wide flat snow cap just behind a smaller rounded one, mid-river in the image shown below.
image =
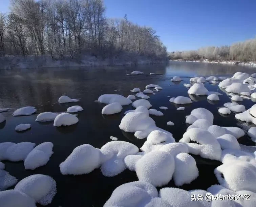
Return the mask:
<path fill-rule="evenodd" d="M 129 105 L 132 103 L 130 99 L 119 94 L 104 94 L 98 98 L 98 101 L 100 103 L 105 103 L 105 104 L 118 102 L 118 103 L 121 103 L 122 106 Z"/>

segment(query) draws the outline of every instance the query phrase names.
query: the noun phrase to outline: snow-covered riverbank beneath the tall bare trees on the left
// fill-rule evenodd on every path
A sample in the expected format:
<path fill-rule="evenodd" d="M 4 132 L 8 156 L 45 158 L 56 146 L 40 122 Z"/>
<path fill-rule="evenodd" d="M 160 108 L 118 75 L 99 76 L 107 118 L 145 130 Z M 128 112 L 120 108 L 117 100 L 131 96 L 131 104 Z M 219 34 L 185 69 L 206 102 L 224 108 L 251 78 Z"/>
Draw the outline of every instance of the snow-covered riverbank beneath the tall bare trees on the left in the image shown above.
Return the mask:
<path fill-rule="evenodd" d="M 82 55 L 80 58 L 66 57 L 53 60 L 51 56 L 8 56 L 0 57 L 0 69 L 43 68 L 43 67 L 78 67 L 78 66 L 108 66 L 108 65 L 138 65 L 163 63 L 165 61 L 133 54 L 122 54 L 115 58 L 101 59 L 95 56 Z"/>

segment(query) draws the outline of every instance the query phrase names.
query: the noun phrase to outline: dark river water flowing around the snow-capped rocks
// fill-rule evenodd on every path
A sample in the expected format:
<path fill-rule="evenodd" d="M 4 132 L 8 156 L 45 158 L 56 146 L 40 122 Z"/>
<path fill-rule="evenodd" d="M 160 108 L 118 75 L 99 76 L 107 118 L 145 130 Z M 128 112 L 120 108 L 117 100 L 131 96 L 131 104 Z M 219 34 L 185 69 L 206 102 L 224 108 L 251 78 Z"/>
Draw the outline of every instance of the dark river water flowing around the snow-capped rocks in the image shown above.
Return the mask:
<path fill-rule="evenodd" d="M 133 70 L 143 71 L 145 75 L 126 76 L 126 73 Z M 138 180 L 135 172 L 125 170 L 118 176 L 104 177 L 100 169 L 96 169 L 86 175 L 62 175 L 59 164 L 67 158 L 75 147 L 82 144 L 90 144 L 96 148 L 101 148 L 111 141 L 110 136 L 114 136 L 118 140 L 131 142 L 137 147 L 141 147 L 145 139 L 138 140 L 133 134 L 122 132 L 118 127 L 124 117 L 124 112 L 132 109 L 131 105 L 124 106 L 119 114 L 103 116 L 101 110 L 105 105 L 94 101 L 102 94 L 127 96 L 131 94 L 130 90 L 135 87 L 144 90 L 148 84 L 157 84 L 163 87 L 163 90 L 156 92 L 156 95 L 150 94 L 148 100 L 153 106 L 152 108 L 158 109 L 160 106 L 166 106 L 168 110 L 162 110 L 164 116 L 151 117 L 158 127 L 170 131 L 176 142 L 182 138 L 188 126 L 185 123 L 185 116 L 199 107 L 206 108 L 213 113 L 213 124 L 238 126 L 246 130 L 248 126 L 238 122 L 234 113 L 227 117 L 218 113 L 218 108 L 223 106 L 225 102 L 231 102 L 231 100 L 217 85 L 205 84 L 209 91 L 218 91 L 224 94 L 219 96 L 219 101 L 213 103 L 207 101 L 206 96 L 197 97 L 192 104 L 186 106 L 184 111 L 177 111 L 176 108 L 179 106 L 170 103 L 170 97 L 167 97 L 179 95 L 188 97 L 188 89 L 183 84 L 189 83 L 189 77 L 191 76 L 231 77 L 237 71 L 251 74 L 256 72 L 256 68 L 210 63 L 170 62 L 168 65 L 1 70 L 0 108 L 11 109 L 2 113 L 6 117 L 6 122 L 0 125 L 0 143 L 27 141 L 36 144 L 42 142 L 52 142 L 54 144 L 54 154 L 45 166 L 32 171 L 25 170 L 23 162 L 3 161 L 6 170 L 19 180 L 32 174 L 45 174 L 53 177 L 57 182 L 57 194 L 48 206 L 103 206 L 116 187 Z M 150 72 L 159 75 L 150 76 Z M 172 83 L 170 79 L 173 76 L 180 76 L 183 81 Z M 60 104 L 58 98 L 63 94 L 71 98 L 78 98 L 80 101 Z M 254 102 L 243 100 L 241 104 L 248 109 L 254 105 Z M 64 112 L 73 105 L 80 105 L 84 108 L 84 111 L 77 113 L 79 122 L 68 127 L 54 127 L 53 122 L 36 122 L 37 114 L 21 117 L 12 116 L 17 108 L 25 106 L 34 106 L 38 110 L 37 112 L 41 113 Z M 175 125 L 168 126 L 166 124 L 168 121 L 174 122 Z M 31 129 L 23 133 L 15 132 L 15 127 L 20 123 L 30 123 Z M 255 145 L 247 136 L 240 138 L 238 141 L 245 145 Z M 212 184 L 217 184 L 213 170 L 221 163 L 195 155 L 193 157 L 197 162 L 199 177 L 191 184 L 185 184 L 181 188 L 206 190 Z M 167 186 L 175 187 L 173 181 Z"/>

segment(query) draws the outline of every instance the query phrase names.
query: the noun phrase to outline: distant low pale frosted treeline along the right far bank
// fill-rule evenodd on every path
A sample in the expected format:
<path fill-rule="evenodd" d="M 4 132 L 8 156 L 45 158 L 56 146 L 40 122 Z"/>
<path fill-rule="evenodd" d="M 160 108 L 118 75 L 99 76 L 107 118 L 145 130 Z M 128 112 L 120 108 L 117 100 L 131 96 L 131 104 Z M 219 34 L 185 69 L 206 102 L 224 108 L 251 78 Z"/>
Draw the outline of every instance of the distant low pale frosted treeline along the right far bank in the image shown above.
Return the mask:
<path fill-rule="evenodd" d="M 198 50 L 171 52 L 171 59 L 183 60 L 237 60 L 256 61 L 256 38 L 234 43 L 231 46 L 205 47 Z"/>

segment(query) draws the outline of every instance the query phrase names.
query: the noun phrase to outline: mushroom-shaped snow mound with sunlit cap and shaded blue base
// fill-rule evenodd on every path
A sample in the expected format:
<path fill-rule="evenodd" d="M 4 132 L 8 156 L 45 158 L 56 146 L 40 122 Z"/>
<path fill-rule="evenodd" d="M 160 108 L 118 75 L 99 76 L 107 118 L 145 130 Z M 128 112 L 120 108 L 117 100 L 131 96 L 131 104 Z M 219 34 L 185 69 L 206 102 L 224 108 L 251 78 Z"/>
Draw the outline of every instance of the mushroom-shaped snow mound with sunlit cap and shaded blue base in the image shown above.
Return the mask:
<path fill-rule="evenodd" d="M 102 146 L 100 151 L 105 156 L 109 153 L 113 155 L 110 159 L 104 160 L 101 165 L 102 174 L 107 177 L 112 177 L 126 169 L 124 158 L 127 155 L 136 154 L 138 148 L 129 142 L 112 141 Z"/>

